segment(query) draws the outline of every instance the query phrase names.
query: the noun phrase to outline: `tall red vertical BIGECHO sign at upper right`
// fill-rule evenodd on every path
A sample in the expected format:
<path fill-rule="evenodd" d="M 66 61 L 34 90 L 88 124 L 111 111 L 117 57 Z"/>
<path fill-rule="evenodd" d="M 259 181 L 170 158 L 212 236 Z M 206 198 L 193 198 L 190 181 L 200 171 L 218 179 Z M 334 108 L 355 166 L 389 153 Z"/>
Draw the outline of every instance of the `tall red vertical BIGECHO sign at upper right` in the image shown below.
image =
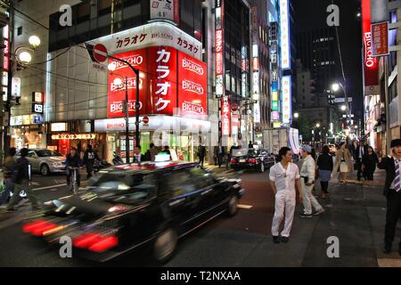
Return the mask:
<path fill-rule="evenodd" d="M 372 54 L 371 0 L 362 0 L 364 95 L 379 94 L 378 59 Z"/>

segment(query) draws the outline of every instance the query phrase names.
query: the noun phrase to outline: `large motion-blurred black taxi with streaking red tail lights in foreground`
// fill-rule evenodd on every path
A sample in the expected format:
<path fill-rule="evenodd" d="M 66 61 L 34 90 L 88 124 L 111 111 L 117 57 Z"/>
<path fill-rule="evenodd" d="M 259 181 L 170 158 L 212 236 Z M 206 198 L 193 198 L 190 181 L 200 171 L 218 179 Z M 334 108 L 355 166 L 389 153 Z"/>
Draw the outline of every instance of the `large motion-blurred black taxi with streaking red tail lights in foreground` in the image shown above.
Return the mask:
<path fill-rule="evenodd" d="M 123 165 L 100 174 L 81 194 L 46 202 L 23 232 L 54 246 L 69 236 L 73 256 L 100 262 L 150 245 L 164 263 L 179 238 L 223 213 L 234 216 L 244 192 L 240 179 L 194 163 Z"/>

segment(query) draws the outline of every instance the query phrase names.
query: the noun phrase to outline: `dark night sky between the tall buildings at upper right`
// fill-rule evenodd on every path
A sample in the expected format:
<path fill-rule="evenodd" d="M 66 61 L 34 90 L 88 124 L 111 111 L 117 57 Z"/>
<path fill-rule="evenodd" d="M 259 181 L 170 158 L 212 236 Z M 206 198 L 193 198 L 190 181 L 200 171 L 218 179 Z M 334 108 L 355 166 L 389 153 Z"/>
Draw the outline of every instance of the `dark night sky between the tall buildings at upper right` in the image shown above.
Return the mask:
<path fill-rule="evenodd" d="M 345 76 L 348 81 L 348 94 L 352 95 L 353 109 L 356 116 L 363 114 L 362 81 L 362 29 L 360 0 L 292 0 L 295 10 L 295 25 L 298 30 L 325 28 L 327 6 L 337 4 L 340 7 L 340 47 Z M 340 64 L 340 62 L 339 62 Z M 333 78 L 333 81 L 335 78 Z"/>

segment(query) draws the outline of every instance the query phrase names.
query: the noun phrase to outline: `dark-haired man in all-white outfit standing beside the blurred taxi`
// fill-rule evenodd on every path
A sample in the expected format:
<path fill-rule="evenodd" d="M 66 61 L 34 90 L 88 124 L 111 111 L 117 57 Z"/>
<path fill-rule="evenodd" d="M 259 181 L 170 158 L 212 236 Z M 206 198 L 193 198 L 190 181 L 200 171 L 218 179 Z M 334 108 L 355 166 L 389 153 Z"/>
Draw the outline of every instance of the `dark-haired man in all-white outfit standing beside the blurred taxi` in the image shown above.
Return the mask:
<path fill-rule="evenodd" d="M 292 163 L 291 149 L 283 147 L 279 151 L 280 162 L 270 168 L 270 185 L 274 191 L 274 217 L 272 224 L 273 242 L 288 242 L 291 234 L 292 221 L 296 205 L 296 194 L 299 191 L 299 200 L 302 200 L 301 185 L 299 182 L 299 168 Z M 282 220 L 284 227 L 279 233 Z M 281 237 L 280 237 L 281 236 Z"/>

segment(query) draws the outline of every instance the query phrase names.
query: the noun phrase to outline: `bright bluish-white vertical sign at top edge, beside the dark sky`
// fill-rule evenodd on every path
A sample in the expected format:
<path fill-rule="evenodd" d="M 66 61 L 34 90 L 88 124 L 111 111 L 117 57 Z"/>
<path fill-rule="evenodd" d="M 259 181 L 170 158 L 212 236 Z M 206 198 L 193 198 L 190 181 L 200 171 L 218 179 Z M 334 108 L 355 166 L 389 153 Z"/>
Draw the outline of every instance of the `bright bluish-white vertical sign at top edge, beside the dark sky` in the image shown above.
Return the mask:
<path fill-rule="evenodd" d="M 282 69 L 291 69 L 290 14 L 288 0 L 280 0 L 280 31 Z"/>

